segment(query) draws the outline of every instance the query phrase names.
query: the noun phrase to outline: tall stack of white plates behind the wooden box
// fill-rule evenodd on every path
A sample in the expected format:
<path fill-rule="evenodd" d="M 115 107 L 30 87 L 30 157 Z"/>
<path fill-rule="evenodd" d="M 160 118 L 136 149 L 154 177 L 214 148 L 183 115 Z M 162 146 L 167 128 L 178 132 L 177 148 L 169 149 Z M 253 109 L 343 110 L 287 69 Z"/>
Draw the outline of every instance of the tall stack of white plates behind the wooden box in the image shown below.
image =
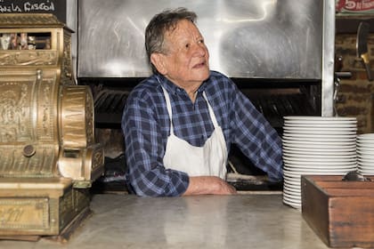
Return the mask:
<path fill-rule="evenodd" d="M 301 175 L 357 169 L 355 117 L 284 116 L 283 203 L 301 208 Z"/>

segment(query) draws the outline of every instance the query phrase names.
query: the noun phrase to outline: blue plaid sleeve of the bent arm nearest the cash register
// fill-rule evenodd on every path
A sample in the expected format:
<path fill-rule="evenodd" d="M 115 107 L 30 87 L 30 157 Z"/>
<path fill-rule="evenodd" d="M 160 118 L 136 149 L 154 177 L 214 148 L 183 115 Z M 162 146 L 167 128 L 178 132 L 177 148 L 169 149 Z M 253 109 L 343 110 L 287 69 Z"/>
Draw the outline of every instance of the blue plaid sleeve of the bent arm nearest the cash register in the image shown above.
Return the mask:
<path fill-rule="evenodd" d="M 154 98 L 138 91 L 127 99 L 122 118 L 128 167 L 126 181 L 138 196 L 181 196 L 187 189 L 189 177 L 187 173 L 166 169 L 159 157 L 164 154 L 164 144 L 161 142 L 162 124 L 154 119 L 153 108 L 158 105 L 157 101 L 152 102 Z"/>

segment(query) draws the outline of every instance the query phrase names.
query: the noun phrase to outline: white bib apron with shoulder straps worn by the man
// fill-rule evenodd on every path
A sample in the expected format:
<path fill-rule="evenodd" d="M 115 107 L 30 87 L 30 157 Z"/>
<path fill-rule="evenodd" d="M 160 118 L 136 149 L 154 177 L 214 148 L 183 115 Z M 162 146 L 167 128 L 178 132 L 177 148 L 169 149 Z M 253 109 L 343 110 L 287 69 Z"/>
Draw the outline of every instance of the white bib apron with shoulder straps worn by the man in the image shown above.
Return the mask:
<path fill-rule="evenodd" d="M 169 94 L 164 87 L 162 89 L 167 100 L 167 112 L 170 117 L 170 135 L 167 138 L 164 166 L 168 169 L 188 173 L 189 176 L 218 176 L 225 179 L 227 149 L 224 133 L 216 121 L 215 113 L 207 101 L 205 92 L 203 92 L 203 96 L 207 101 L 209 115 L 215 126 L 215 131 L 203 147 L 196 147 L 175 136 Z"/>

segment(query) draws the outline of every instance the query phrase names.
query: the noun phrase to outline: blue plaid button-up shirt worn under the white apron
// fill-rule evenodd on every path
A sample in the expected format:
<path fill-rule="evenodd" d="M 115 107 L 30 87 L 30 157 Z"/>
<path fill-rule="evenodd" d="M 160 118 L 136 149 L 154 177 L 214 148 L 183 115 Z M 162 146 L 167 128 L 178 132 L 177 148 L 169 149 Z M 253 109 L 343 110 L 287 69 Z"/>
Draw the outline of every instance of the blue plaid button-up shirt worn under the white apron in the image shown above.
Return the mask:
<path fill-rule="evenodd" d="M 122 116 L 129 189 L 139 196 L 181 196 L 189 185 L 187 173 L 166 169 L 163 157 L 170 134 L 170 119 L 164 97 L 169 92 L 175 135 L 193 146 L 203 146 L 214 131 L 207 100 L 224 131 L 227 149 L 238 145 L 271 181 L 282 179 L 281 140 L 232 80 L 211 71 L 199 87 L 194 103 L 182 88 L 164 76 L 153 75 L 136 85 L 128 96 Z"/>

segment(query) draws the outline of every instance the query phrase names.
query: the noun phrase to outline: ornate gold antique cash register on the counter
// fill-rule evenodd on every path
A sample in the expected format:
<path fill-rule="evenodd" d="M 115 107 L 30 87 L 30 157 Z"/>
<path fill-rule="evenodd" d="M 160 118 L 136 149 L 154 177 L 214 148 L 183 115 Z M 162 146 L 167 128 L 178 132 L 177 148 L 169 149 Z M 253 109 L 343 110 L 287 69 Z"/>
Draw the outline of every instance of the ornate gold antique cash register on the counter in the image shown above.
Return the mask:
<path fill-rule="evenodd" d="M 0 238 L 67 234 L 103 173 L 71 33 L 52 14 L 0 15 Z"/>

